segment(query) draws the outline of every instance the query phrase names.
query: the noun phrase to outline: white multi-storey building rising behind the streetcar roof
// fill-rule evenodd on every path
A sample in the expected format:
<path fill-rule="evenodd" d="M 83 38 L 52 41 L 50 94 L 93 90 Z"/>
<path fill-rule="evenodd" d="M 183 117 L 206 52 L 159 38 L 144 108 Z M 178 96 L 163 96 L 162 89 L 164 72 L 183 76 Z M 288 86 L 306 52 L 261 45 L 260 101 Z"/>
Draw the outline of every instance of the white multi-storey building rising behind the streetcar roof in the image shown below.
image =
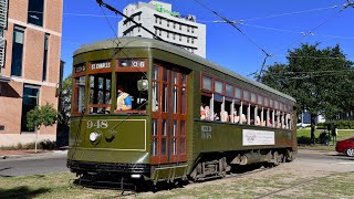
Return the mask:
<path fill-rule="evenodd" d="M 128 4 L 123 13 L 163 40 L 206 57 L 206 25 L 197 23 L 195 15 L 183 18 L 171 8 L 169 3 L 153 0 L 148 3 Z M 125 18 L 118 23 L 118 36 L 154 38 Z"/>

